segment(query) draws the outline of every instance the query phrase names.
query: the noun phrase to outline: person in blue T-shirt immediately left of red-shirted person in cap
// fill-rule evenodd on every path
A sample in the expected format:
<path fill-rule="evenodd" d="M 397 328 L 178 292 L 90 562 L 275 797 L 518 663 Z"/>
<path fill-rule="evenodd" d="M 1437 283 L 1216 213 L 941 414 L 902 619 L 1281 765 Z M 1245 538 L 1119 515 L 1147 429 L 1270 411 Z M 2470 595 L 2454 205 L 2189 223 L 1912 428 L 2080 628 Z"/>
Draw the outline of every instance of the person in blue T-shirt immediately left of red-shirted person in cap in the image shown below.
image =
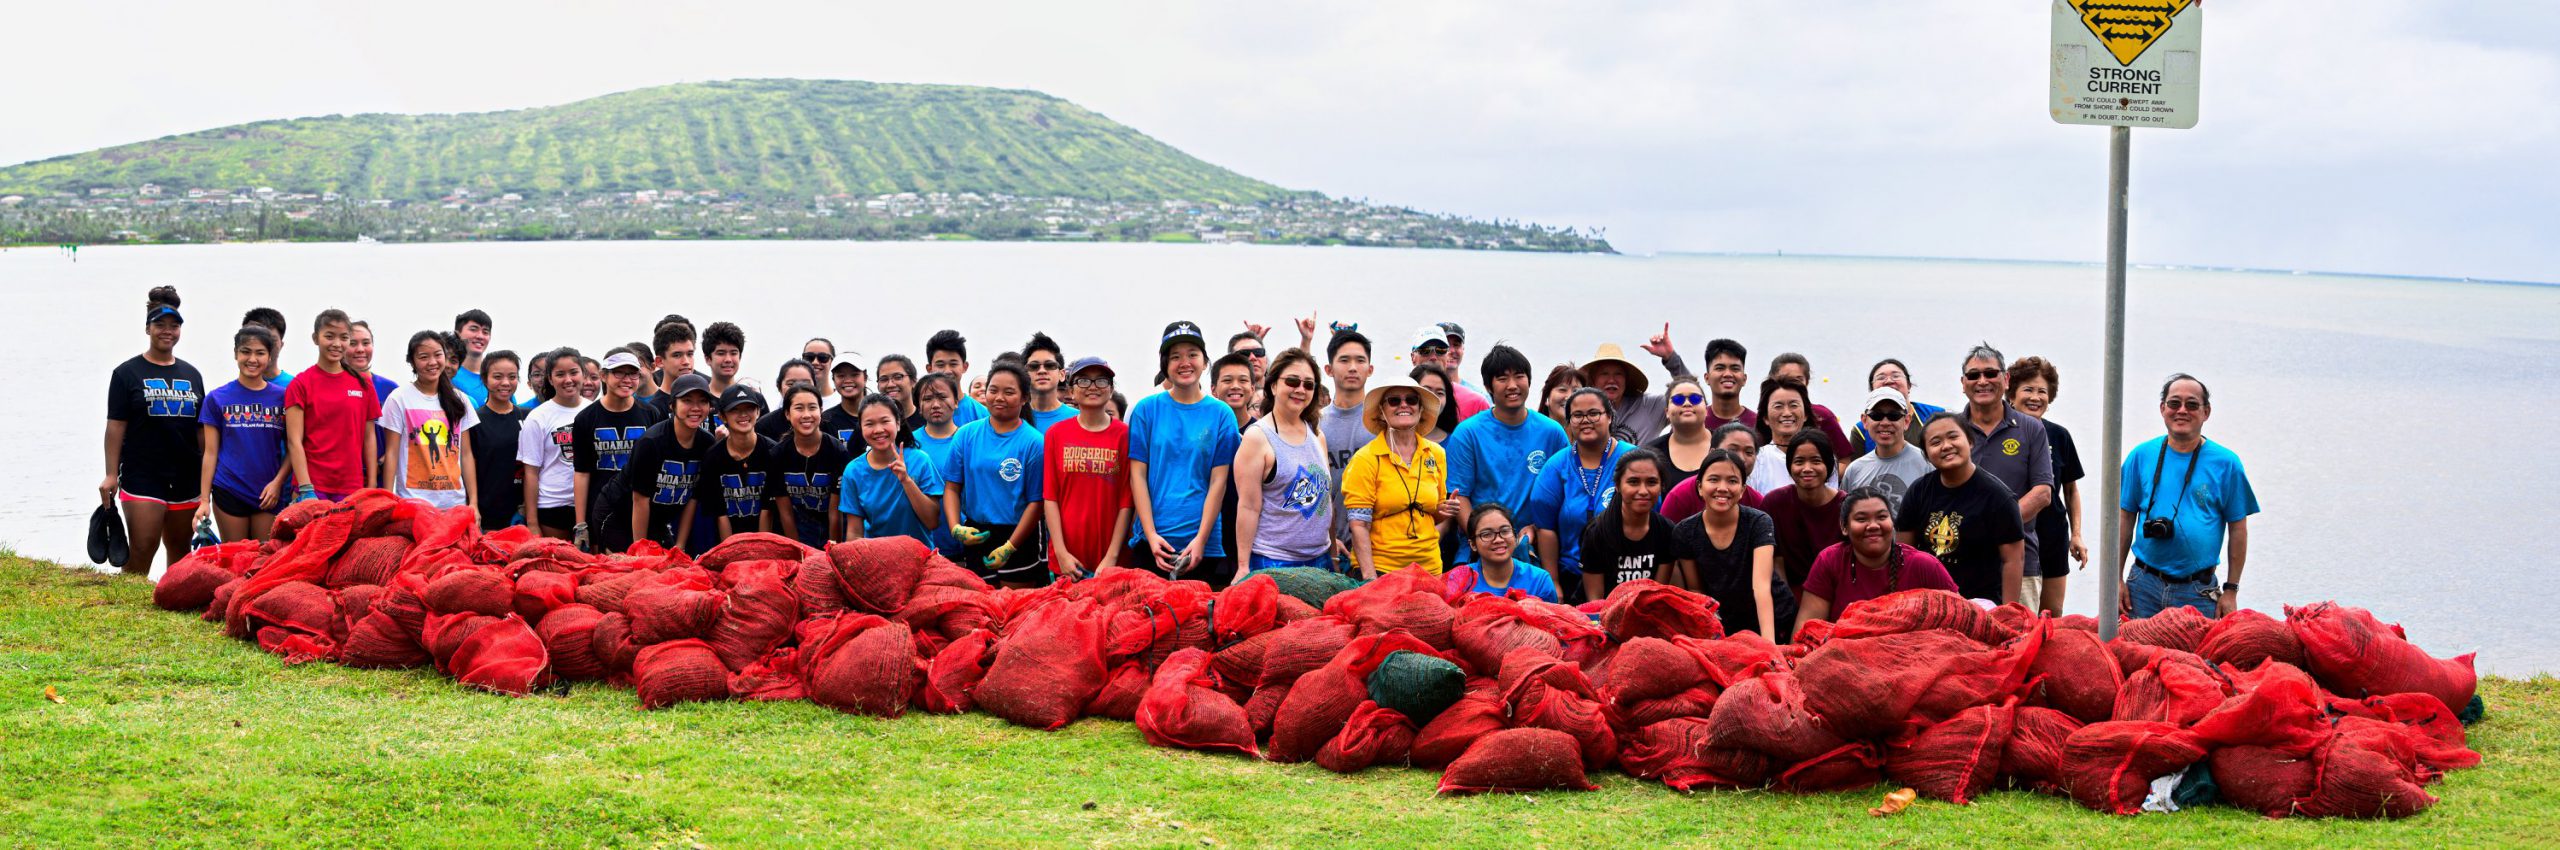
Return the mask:
<path fill-rule="evenodd" d="M 998 361 L 986 374 L 986 420 L 960 425 L 942 463 L 942 515 L 960 540 L 960 566 L 1001 586 L 1047 584 L 1039 545 L 1039 474 L 1047 458 L 1039 430 L 1021 420 L 1032 376 Z"/>

